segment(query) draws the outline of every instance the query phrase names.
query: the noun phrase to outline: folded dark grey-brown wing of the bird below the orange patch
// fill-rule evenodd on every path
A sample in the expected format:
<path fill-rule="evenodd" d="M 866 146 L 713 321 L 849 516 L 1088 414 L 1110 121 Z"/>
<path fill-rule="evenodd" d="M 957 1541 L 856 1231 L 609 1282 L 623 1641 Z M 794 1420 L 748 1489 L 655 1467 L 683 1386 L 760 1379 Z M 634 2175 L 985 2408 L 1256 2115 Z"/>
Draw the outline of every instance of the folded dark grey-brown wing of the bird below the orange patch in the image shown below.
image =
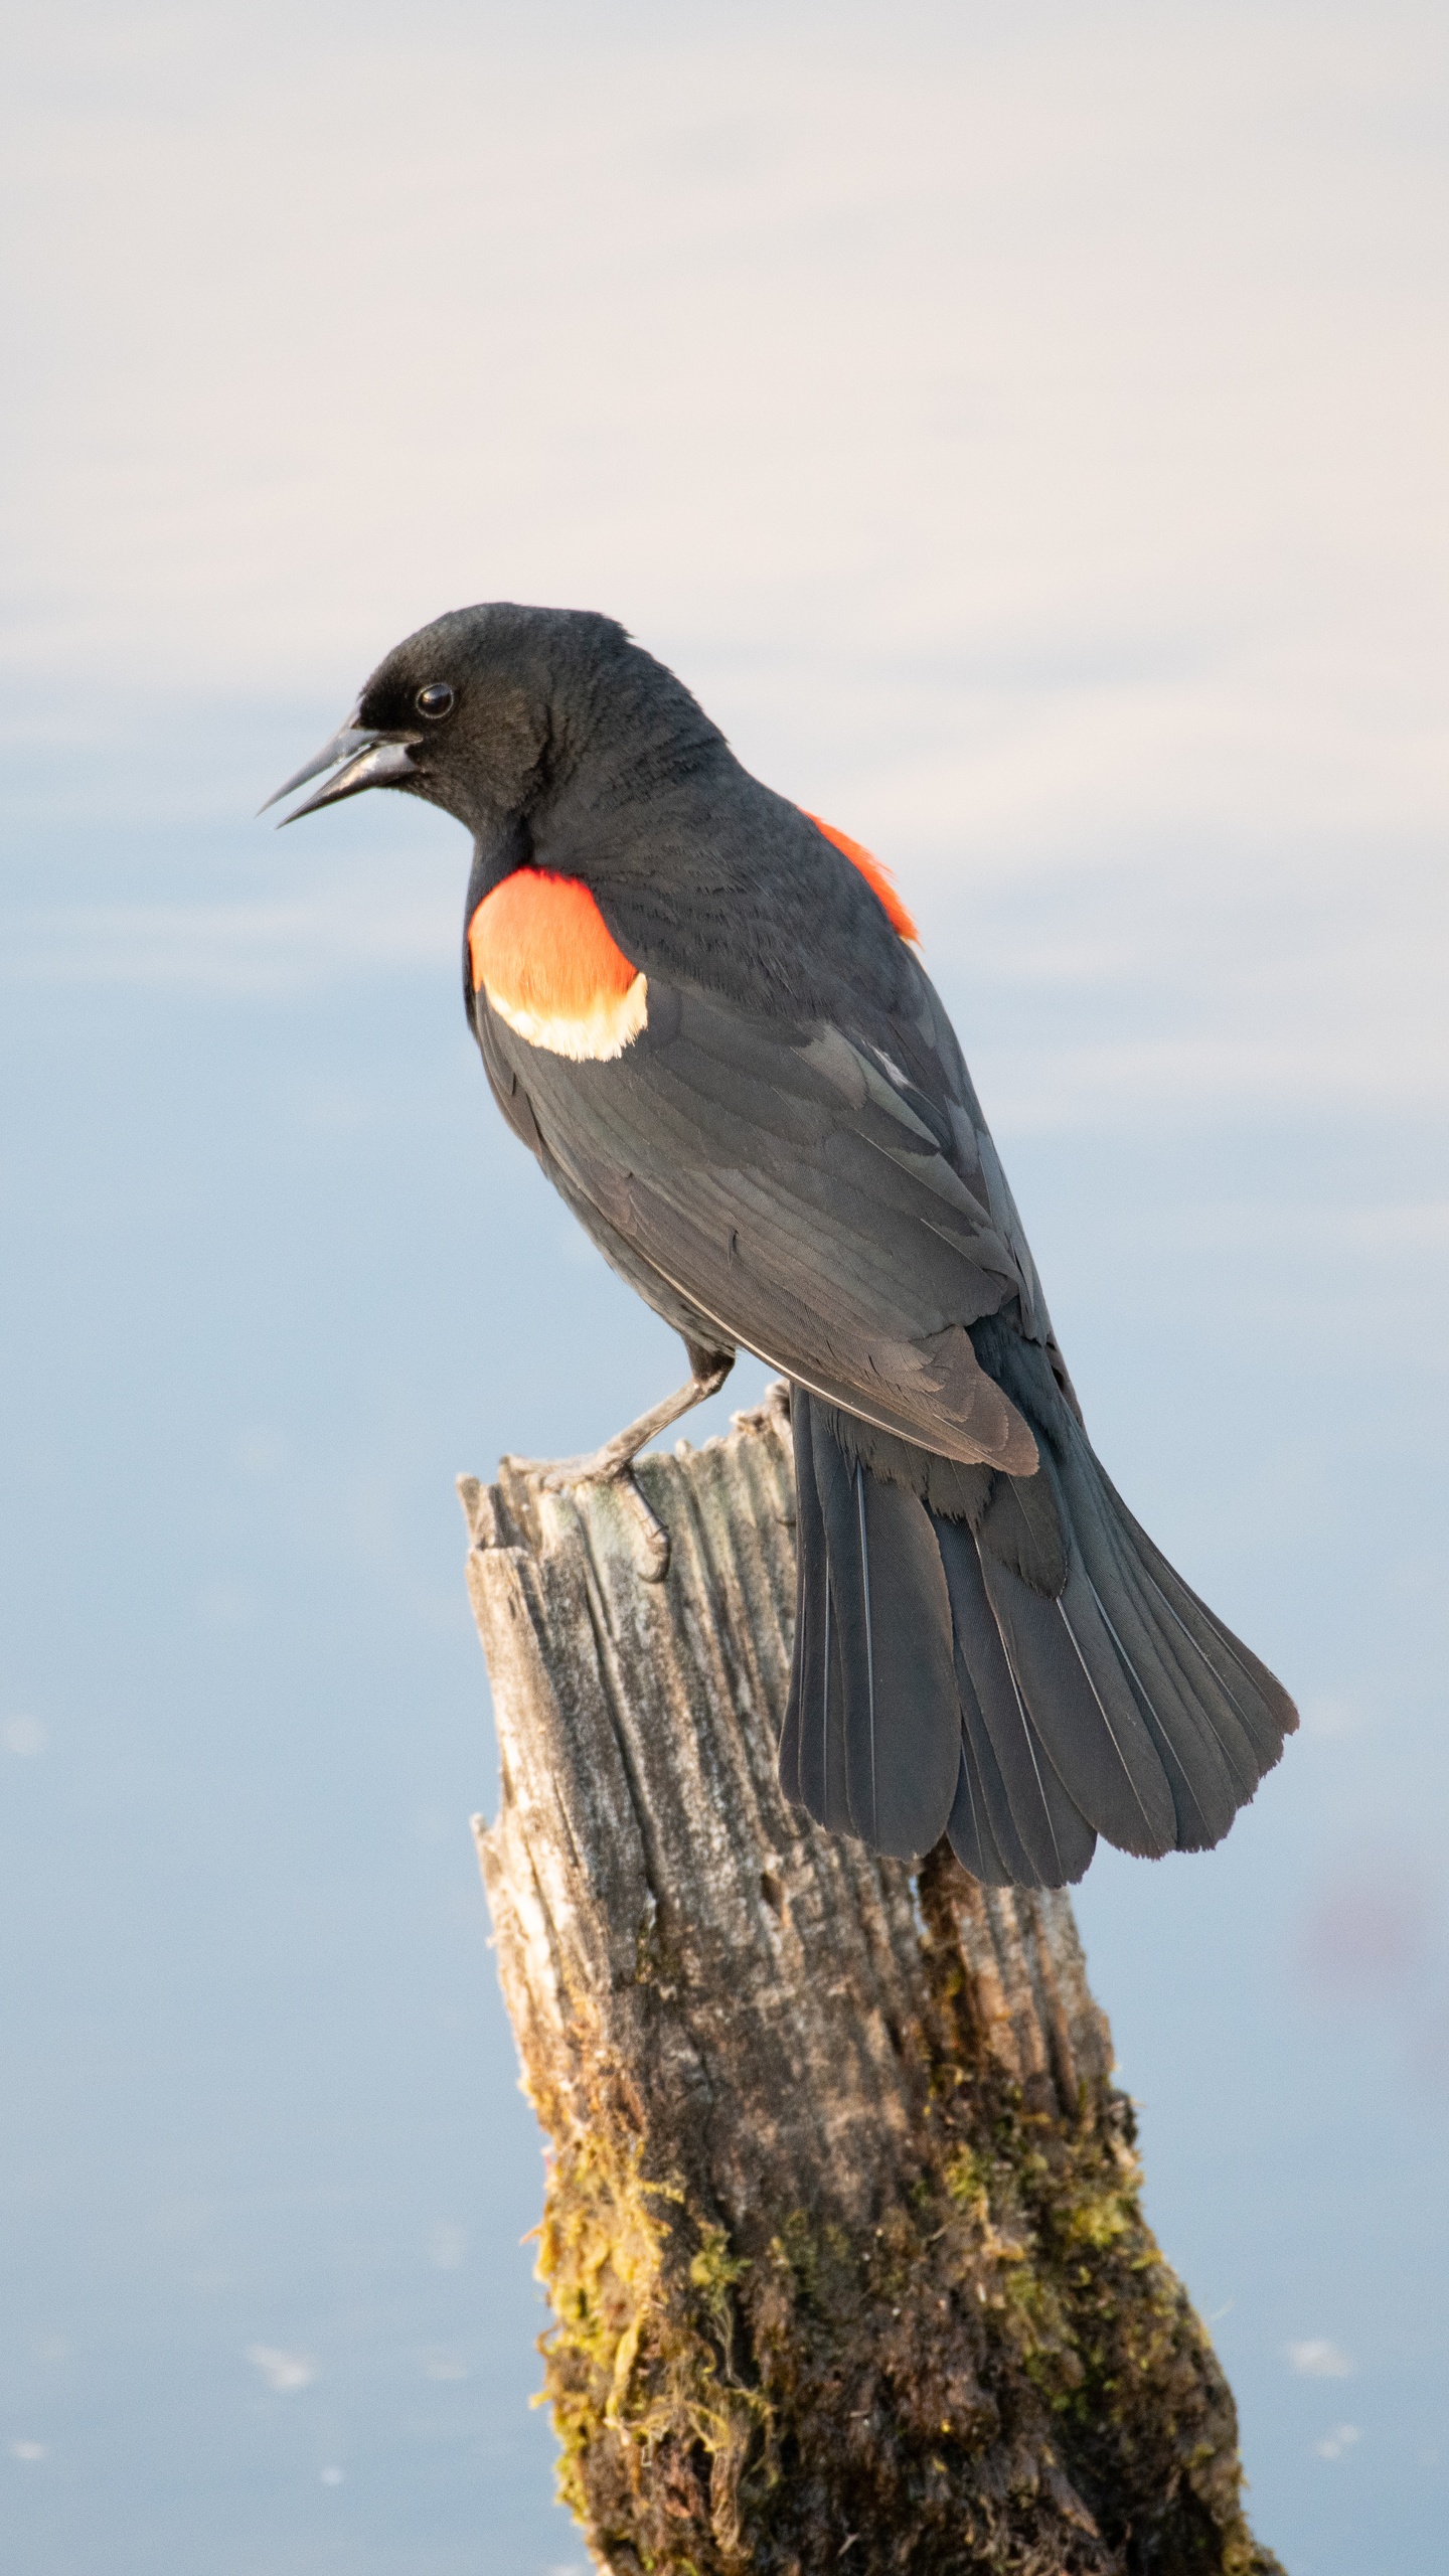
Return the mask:
<path fill-rule="evenodd" d="M 722 1340 L 882 1430 L 1021 1476 L 1036 1443 L 964 1327 L 1018 1298 L 1031 1329 L 1039 1288 L 926 976 L 915 999 L 866 1036 L 650 976 L 647 1025 L 608 1061 L 531 1046 L 485 994 L 477 1025 L 495 1092 L 575 1208 Z"/>

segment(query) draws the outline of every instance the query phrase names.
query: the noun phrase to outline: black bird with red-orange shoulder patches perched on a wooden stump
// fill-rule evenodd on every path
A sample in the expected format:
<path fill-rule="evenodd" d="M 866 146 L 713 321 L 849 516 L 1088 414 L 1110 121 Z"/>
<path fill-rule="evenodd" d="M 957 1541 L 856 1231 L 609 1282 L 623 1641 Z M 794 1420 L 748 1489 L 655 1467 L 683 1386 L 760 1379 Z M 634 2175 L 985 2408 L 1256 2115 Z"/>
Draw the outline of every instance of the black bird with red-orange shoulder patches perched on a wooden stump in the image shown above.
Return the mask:
<path fill-rule="evenodd" d="M 946 1837 L 1060 1888 L 1098 1837 L 1217 1844 L 1297 1710 L 1132 1517 L 1083 1409 L 915 925 L 879 860 L 753 778 L 593 611 L 449 611 L 268 804 L 387 788 L 472 832 L 464 1007 L 492 1097 L 688 1381 L 789 1388 L 786 1801 L 871 1852 Z M 266 809 L 263 809 L 266 811 Z"/>

